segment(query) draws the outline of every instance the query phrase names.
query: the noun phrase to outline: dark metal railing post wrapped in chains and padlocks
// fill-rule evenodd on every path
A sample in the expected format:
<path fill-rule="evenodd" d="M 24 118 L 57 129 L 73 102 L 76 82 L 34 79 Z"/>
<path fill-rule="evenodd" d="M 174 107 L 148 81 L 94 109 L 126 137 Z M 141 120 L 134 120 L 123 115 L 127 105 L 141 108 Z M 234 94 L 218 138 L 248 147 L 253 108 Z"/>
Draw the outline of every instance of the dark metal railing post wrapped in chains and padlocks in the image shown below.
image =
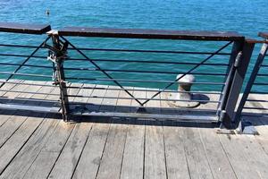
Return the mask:
<path fill-rule="evenodd" d="M 67 57 L 68 43 L 62 44 L 58 32 L 55 30 L 51 30 L 47 33 L 51 36 L 53 42 L 53 47 L 49 47 L 49 59 L 54 63 L 54 84 L 59 85 L 63 120 L 68 122 L 70 117 L 70 107 L 63 67 L 64 60 Z"/>

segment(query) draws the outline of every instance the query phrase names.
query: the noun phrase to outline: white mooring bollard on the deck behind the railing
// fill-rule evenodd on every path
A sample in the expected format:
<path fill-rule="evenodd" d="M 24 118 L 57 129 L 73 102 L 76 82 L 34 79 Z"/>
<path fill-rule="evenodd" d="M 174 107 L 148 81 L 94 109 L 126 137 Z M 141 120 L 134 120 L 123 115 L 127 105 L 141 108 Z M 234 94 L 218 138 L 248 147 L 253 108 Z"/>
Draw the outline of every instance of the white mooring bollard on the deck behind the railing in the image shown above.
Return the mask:
<path fill-rule="evenodd" d="M 172 107 L 197 107 L 200 103 L 197 101 L 192 101 L 193 94 L 191 94 L 190 92 L 192 84 L 196 81 L 196 78 L 192 74 L 186 74 L 184 76 L 183 75 L 184 74 L 177 75 L 177 79 L 180 79 L 178 80 L 178 93 L 169 94 L 168 98 L 173 100 L 169 102 L 169 105 L 171 105 Z"/>

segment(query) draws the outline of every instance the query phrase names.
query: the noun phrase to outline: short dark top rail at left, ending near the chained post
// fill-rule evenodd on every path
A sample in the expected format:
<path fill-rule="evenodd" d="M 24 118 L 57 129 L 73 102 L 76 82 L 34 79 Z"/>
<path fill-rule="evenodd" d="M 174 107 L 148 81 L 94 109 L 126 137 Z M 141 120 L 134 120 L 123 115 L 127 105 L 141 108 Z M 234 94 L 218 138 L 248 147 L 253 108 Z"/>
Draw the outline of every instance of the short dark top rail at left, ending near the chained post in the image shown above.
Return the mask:
<path fill-rule="evenodd" d="M 44 34 L 51 30 L 47 24 L 0 22 L 0 32 Z"/>

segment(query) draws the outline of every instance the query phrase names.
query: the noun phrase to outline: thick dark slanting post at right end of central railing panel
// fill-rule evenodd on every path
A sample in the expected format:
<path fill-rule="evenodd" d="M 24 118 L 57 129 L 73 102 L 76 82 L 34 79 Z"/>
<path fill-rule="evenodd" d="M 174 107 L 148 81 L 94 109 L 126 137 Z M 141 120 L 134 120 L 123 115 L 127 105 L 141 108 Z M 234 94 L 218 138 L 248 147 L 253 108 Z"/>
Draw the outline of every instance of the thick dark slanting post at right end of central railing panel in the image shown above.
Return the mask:
<path fill-rule="evenodd" d="M 228 129 L 235 127 L 233 125 L 235 109 L 254 46 L 254 43 L 248 43 L 246 40 L 232 65 L 233 77 L 230 80 L 230 90 L 227 92 L 225 107 L 222 108 L 222 124 Z"/>

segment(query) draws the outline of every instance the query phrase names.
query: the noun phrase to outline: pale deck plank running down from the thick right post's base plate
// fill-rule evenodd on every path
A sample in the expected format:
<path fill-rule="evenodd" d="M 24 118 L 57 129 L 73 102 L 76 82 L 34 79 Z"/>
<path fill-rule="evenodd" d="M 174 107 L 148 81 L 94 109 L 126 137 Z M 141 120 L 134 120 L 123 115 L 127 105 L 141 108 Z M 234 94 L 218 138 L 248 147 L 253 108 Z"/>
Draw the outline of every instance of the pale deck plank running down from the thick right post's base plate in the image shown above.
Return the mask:
<path fill-rule="evenodd" d="M 238 178 L 261 178 L 255 168 L 251 166 L 251 162 L 247 160 L 244 146 L 238 144 L 240 136 L 225 134 L 219 134 L 218 136 Z"/>

